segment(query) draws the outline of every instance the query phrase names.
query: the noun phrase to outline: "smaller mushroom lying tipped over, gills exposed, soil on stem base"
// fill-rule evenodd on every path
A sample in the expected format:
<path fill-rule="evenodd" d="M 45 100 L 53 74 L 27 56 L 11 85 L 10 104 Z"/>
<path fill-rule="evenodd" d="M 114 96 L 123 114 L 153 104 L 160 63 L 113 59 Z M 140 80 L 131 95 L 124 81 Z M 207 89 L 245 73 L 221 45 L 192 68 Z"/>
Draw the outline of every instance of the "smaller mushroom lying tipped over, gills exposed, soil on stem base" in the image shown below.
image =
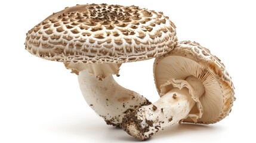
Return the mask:
<path fill-rule="evenodd" d="M 124 117 L 122 128 L 145 140 L 177 122 L 216 123 L 233 105 L 234 86 L 223 63 L 196 42 L 179 42 L 157 57 L 154 77 L 160 99 Z"/>

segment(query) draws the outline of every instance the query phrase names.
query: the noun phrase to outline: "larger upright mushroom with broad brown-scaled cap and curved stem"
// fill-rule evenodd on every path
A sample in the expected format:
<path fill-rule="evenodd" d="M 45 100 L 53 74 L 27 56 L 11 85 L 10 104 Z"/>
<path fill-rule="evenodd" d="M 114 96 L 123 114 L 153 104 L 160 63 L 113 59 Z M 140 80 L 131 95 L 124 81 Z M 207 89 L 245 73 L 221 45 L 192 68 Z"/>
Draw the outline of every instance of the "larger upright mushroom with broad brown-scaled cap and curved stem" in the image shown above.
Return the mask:
<path fill-rule="evenodd" d="M 87 4 L 53 13 L 27 33 L 27 51 L 61 61 L 78 81 L 88 105 L 108 125 L 119 126 L 126 113 L 149 104 L 118 85 L 122 63 L 147 60 L 177 44 L 175 26 L 162 13 L 135 6 Z"/>

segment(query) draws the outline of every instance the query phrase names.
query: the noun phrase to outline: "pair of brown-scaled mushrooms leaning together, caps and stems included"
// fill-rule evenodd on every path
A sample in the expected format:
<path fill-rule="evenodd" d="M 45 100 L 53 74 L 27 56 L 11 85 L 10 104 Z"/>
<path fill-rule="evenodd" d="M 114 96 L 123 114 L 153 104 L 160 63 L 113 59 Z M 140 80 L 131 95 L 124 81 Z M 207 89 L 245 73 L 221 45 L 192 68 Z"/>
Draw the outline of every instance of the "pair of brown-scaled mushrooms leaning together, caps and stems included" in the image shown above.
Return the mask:
<path fill-rule="evenodd" d="M 220 60 L 180 42 L 162 13 L 135 6 L 87 4 L 53 13 L 27 33 L 27 51 L 78 74 L 88 105 L 108 125 L 144 140 L 177 121 L 215 123 L 231 110 L 233 85 Z M 174 48 L 175 46 L 175 48 Z M 151 104 L 118 85 L 122 63 L 155 58 L 161 98 Z"/>

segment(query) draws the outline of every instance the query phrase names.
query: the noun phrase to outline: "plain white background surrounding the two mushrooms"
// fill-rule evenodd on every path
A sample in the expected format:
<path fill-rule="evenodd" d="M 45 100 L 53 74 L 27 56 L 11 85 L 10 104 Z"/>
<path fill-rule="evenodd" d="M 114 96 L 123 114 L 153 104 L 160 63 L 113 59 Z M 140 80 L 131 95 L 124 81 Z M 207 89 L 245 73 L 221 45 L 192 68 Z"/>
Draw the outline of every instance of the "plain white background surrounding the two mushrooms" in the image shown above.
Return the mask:
<path fill-rule="evenodd" d="M 226 119 L 214 125 L 175 125 L 147 142 L 254 141 L 254 1 L 1 1 L 0 142 L 137 142 L 107 126 L 87 105 L 77 77 L 62 63 L 43 60 L 24 49 L 26 32 L 53 12 L 76 4 L 138 5 L 162 11 L 177 26 L 179 41 L 201 43 L 226 65 L 236 101 Z M 158 100 L 153 60 L 123 64 L 116 80 Z"/>

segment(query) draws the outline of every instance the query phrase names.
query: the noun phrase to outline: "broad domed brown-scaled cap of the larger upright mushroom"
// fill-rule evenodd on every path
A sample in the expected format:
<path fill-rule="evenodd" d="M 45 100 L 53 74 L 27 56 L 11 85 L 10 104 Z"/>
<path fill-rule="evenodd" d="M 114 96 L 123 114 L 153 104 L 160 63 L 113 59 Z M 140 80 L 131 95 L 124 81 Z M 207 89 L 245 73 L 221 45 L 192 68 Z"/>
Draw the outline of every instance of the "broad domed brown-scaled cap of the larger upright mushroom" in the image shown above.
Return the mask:
<path fill-rule="evenodd" d="M 162 13 L 121 5 L 87 4 L 53 13 L 27 33 L 27 51 L 47 60 L 125 63 L 165 54 L 177 43 Z"/>

